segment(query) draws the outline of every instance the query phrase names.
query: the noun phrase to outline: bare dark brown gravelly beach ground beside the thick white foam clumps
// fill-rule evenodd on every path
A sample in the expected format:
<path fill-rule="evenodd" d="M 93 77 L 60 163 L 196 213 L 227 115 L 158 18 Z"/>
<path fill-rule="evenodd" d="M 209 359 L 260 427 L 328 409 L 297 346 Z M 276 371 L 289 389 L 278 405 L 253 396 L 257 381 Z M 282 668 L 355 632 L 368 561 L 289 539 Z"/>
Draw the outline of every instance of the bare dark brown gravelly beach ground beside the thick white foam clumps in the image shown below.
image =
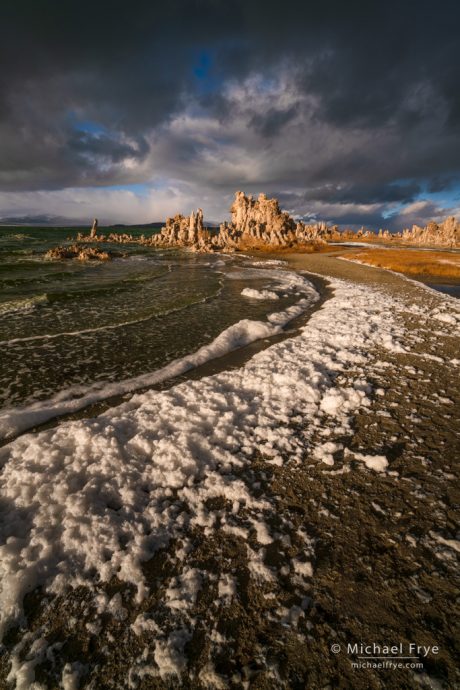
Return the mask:
<path fill-rule="evenodd" d="M 378 282 L 381 289 L 424 308 L 443 299 L 392 274 L 331 256 L 291 260 L 297 268 L 323 275 Z M 48 651 L 35 666 L 41 685 L 30 687 L 77 688 L 71 670 L 80 672 L 80 687 L 94 690 L 460 687 L 460 583 L 452 546 L 459 542 L 439 541 L 458 539 L 459 530 L 460 381 L 458 368 L 449 364 L 459 356 L 458 339 L 447 331 L 443 335 L 440 322 L 434 332 L 409 311 L 404 318 L 420 341 L 407 354 L 383 348 L 374 353 L 383 364 L 368 378 L 381 394 L 373 394 L 371 407 L 355 415 L 351 434 L 337 438 L 331 424 L 327 440 L 343 445 L 333 467 L 306 451 L 302 465 L 277 467 L 258 457 L 241 471 L 240 478 L 273 506 L 270 527 L 278 538 L 265 549 L 264 563 L 278 576 L 256 585 L 243 538 L 219 531 L 219 523 L 212 539 L 199 529 L 191 534 L 188 563 L 207 575 L 193 605 L 195 625 L 185 642 L 181 679 L 142 672 L 142 663 L 151 658 L 152 633 L 148 624 L 137 634 L 130 627 L 139 614 L 167 625 L 164 592 L 175 574 L 172 555 L 181 546 L 174 544 L 145 564 L 150 595 L 142 604 L 133 603 L 126 585 L 113 582 L 105 588 L 110 597 L 121 595 L 123 607 L 112 615 L 97 617 L 93 595 L 84 589 L 65 599 L 29 595 L 25 608 L 32 634 L 28 638 L 20 628 L 9 632 L 0 687 L 13 687 L 6 680 L 8 651 L 22 639 L 20 656 L 26 659 L 37 637 L 46 639 Z M 418 356 L 423 353 L 442 361 Z M 349 369 L 346 378 L 354 376 Z M 376 473 L 350 460 L 347 451 L 354 450 L 385 455 L 389 472 Z M 224 497 L 214 501 L 207 508 L 218 516 L 230 509 Z M 308 538 L 300 538 L 302 533 Z M 255 540 L 251 534 L 249 544 Z M 306 554 L 313 568 L 307 580 L 285 568 Z M 216 607 L 217 575 L 222 573 L 234 578 L 236 596 Z M 347 655 L 346 645 L 360 642 L 436 645 L 439 654 L 423 659 L 423 670 L 354 669 L 356 655 Z M 333 644 L 341 652 L 332 653 Z M 67 676 L 64 664 L 69 664 Z"/>

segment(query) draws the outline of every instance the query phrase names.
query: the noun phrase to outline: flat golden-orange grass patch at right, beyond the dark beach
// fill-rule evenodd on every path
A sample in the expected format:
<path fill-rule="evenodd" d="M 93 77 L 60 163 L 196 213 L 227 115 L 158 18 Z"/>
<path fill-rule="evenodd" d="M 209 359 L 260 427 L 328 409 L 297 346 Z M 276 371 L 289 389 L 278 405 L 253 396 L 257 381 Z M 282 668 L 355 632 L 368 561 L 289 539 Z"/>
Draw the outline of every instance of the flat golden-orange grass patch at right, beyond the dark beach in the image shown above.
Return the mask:
<path fill-rule="evenodd" d="M 413 249 L 363 249 L 343 256 L 397 273 L 460 280 L 460 254 Z"/>

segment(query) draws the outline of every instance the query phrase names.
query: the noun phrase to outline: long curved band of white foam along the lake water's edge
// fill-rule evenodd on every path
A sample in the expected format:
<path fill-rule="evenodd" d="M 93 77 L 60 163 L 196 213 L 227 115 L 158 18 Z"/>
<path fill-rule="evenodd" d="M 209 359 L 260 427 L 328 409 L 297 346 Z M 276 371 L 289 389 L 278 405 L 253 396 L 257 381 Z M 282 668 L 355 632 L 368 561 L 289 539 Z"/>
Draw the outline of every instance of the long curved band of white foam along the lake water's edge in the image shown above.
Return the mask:
<path fill-rule="evenodd" d="M 61 415 L 76 412 L 114 396 L 157 385 L 245 345 L 277 335 L 292 319 L 300 316 L 319 299 L 319 294 L 309 281 L 301 276 L 296 277 L 300 279 L 304 297 L 283 312 L 270 314 L 266 322 L 250 319 L 238 321 L 222 331 L 208 345 L 200 347 L 190 355 L 175 359 L 156 371 L 120 382 L 98 382 L 90 386 L 71 386 L 48 400 L 33 403 L 22 409 L 3 410 L 0 414 L 0 438 L 8 439 L 17 436 L 27 429 L 44 424 Z M 300 282 L 296 281 L 296 284 L 300 285 Z"/>

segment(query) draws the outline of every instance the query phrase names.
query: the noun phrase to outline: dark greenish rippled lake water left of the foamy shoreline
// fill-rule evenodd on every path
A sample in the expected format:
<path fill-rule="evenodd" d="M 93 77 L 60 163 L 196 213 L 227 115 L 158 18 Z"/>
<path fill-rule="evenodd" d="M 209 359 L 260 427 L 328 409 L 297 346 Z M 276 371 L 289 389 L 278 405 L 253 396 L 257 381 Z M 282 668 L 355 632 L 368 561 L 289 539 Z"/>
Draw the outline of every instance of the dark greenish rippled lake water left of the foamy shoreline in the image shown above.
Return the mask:
<path fill-rule="evenodd" d="M 0 412 L 155 372 L 300 298 L 280 289 L 276 262 L 137 245 L 107 263 L 44 259 L 76 234 L 0 228 Z"/>

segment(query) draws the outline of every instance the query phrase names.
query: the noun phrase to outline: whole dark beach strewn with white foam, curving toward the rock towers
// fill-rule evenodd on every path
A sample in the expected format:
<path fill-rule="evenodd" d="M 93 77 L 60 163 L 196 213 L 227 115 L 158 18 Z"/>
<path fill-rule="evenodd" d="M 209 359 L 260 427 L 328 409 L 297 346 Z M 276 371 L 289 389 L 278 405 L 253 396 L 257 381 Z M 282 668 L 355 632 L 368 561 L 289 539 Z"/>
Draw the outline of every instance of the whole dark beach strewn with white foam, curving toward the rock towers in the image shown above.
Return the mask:
<path fill-rule="evenodd" d="M 2 687 L 458 686 L 458 302 L 283 259 L 300 333 L 0 451 Z"/>

